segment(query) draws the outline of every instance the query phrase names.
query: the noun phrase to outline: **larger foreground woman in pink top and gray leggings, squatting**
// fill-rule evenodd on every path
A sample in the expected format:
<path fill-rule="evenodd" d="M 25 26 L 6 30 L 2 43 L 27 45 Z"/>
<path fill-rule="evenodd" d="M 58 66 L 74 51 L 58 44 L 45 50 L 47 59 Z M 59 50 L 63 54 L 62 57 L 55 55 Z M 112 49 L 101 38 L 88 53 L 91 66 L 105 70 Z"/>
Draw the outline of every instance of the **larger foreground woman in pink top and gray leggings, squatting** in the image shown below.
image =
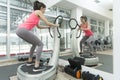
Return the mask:
<path fill-rule="evenodd" d="M 43 43 L 39 40 L 39 38 L 36 35 L 34 35 L 31 32 L 31 30 L 34 27 L 37 27 L 39 29 L 45 29 L 52 26 L 58 27 L 59 25 L 53 24 L 45 18 L 43 14 L 45 12 L 46 5 L 44 3 L 35 1 L 33 8 L 34 8 L 34 11 L 30 14 L 30 16 L 26 19 L 26 21 L 18 26 L 16 34 L 26 42 L 32 44 L 32 47 L 30 49 L 30 56 L 29 56 L 28 62 L 26 63 L 26 66 L 33 65 L 32 57 L 33 57 L 34 50 L 37 47 L 37 50 L 36 50 L 37 54 L 36 54 L 36 60 L 35 60 L 33 71 L 41 71 L 44 69 L 43 66 L 39 65 L 40 56 L 43 50 Z M 43 20 L 48 26 L 39 25 L 40 20 Z"/>

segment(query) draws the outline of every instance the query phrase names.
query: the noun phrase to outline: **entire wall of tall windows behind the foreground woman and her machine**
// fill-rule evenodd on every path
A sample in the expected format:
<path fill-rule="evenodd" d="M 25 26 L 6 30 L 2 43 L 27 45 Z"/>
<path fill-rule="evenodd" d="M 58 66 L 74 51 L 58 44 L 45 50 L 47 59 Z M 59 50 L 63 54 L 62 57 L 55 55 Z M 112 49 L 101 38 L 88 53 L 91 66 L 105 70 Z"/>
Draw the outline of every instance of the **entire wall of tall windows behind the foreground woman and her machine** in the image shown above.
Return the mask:
<path fill-rule="evenodd" d="M 29 16 L 30 11 L 32 10 L 31 0 L 9 0 L 10 5 L 7 4 L 7 0 L 0 0 L 0 55 L 11 55 L 17 53 L 25 53 L 29 52 L 31 45 L 26 41 L 22 40 L 16 35 L 16 29 L 20 23 L 23 23 L 24 20 Z M 7 13 L 10 8 L 10 13 Z M 8 10 L 8 11 L 7 11 Z M 50 22 L 54 22 L 55 16 L 57 14 L 57 8 L 53 8 L 53 12 L 51 14 L 47 14 L 47 19 Z M 60 11 L 62 12 L 62 11 Z M 53 14 L 52 14 L 53 13 Z M 68 15 L 66 15 L 68 13 Z M 10 15 L 9 15 L 10 14 Z M 65 16 L 70 16 L 69 11 L 64 12 Z M 10 25 L 7 24 L 7 20 L 10 18 Z M 9 22 L 9 21 L 8 21 Z M 40 24 L 45 25 L 44 22 L 40 22 Z M 7 35 L 7 31 L 9 31 L 10 26 L 10 35 Z M 64 33 L 62 34 L 65 40 L 65 48 L 70 47 L 70 29 L 68 29 L 68 23 L 64 20 L 62 24 L 64 28 L 61 28 L 61 31 Z M 48 29 L 36 29 L 34 28 L 32 32 L 37 35 L 40 40 L 43 42 L 44 50 L 53 50 L 54 39 L 50 37 Z M 9 38 L 9 39 L 8 39 Z M 7 40 L 8 39 L 8 40 Z M 7 42 L 8 41 L 8 42 Z M 9 44 L 10 43 L 10 44 Z M 6 44 L 8 44 L 6 46 Z M 7 47 L 7 48 L 6 48 Z"/>

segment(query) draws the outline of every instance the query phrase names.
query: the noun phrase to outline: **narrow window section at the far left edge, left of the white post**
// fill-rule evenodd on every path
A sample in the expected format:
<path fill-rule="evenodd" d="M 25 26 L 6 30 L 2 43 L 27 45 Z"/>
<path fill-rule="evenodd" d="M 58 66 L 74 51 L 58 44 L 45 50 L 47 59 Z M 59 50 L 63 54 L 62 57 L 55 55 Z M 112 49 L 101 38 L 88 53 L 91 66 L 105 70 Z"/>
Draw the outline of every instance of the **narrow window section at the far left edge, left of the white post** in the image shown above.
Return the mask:
<path fill-rule="evenodd" d="M 7 8 L 0 6 L 0 55 L 6 55 Z"/>

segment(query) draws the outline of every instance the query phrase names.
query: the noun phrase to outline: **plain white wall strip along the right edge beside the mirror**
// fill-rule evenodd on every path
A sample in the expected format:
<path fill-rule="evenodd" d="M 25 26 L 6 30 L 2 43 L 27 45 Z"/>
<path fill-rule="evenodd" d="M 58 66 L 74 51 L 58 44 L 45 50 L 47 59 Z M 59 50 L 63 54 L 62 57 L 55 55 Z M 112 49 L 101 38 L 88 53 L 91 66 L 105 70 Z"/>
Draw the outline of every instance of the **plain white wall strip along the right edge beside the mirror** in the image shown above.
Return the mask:
<path fill-rule="evenodd" d="M 113 13 L 113 73 L 120 80 L 120 0 L 114 0 Z"/>

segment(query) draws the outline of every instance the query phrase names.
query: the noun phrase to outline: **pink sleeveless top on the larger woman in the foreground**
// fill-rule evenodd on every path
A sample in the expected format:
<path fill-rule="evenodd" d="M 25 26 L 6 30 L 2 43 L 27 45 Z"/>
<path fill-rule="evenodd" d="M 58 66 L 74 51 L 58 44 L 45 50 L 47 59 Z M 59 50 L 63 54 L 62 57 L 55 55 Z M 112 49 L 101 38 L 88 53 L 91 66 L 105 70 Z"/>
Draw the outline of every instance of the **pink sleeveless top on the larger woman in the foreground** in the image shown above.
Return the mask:
<path fill-rule="evenodd" d="M 39 23 L 40 18 L 35 15 L 35 12 L 32 12 L 30 16 L 26 19 L 26 21 L 20 24 L 18 27 L 26 28 L 27 30 L 31 30 Z"/>

